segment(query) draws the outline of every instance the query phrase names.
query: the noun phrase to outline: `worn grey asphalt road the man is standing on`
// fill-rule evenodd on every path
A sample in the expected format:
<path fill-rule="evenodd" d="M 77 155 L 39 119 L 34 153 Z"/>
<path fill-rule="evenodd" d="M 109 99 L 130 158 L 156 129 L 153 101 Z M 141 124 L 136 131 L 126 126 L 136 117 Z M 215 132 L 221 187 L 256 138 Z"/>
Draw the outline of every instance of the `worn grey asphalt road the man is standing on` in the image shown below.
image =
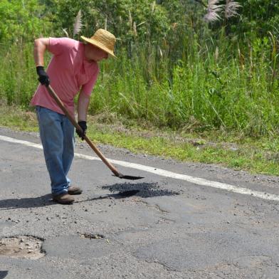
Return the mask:
<path fill-rule="evenodd" d="M 34 133 L 0 128 L 0 135 L 40 143 Z M 2 138 L 0 240 L 36 237 L 43 256 L 5 255 L 0 243 L 0 279 L 279 277 L 278 177 L 100 149 L 110 159 L 236 186 L 244 194 L 116 165 L 144 177 L 123 181 L 102 162 L 77 156 L 69 177 L 84 191 L 63 206 L 51 201 L 42 150 Z M 85 144 L 76 152 L 95 156 Z"/>

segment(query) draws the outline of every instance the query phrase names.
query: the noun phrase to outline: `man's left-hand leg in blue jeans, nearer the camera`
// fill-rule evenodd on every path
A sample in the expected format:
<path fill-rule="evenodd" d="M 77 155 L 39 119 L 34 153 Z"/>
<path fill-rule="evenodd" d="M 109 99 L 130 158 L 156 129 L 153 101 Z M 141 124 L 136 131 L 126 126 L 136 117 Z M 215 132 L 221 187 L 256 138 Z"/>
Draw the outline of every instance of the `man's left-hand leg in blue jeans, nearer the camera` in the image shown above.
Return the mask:
<path fill-rule="evenodd" d="M 37 117 L 46 167 L 51 177 L 51 192 L 53 195 L 67 193 L 68 181 L 63 167 L 63 115 L 37 106 Z"/>

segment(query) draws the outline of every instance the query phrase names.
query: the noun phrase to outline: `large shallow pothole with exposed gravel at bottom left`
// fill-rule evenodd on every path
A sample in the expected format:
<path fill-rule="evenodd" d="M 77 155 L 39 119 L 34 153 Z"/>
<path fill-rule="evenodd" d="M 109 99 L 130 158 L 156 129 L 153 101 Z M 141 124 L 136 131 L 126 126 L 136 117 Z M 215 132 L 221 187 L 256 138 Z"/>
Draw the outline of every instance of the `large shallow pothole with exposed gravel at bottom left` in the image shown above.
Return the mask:
<path fill-rule="evenodd" d="M 34 236 L 13 236 L 0 239 L 0 256 L 36 260 L 45 256 L 43 240 Z"/>

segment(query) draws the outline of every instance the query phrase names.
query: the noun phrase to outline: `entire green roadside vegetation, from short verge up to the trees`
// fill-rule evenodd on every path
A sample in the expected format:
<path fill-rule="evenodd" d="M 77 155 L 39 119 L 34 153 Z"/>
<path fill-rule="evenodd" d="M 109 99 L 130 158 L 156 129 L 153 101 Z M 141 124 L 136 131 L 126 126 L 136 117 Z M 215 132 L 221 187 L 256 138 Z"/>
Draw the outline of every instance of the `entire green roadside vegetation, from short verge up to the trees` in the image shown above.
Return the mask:
<path fill-rule="evenodd" d="M 278 175 L 277 2 L 3 0 L 0 125 L 36 130 L 33 38 L 107 28 L 117 59 L 101 65 L 92 139 Z"/>

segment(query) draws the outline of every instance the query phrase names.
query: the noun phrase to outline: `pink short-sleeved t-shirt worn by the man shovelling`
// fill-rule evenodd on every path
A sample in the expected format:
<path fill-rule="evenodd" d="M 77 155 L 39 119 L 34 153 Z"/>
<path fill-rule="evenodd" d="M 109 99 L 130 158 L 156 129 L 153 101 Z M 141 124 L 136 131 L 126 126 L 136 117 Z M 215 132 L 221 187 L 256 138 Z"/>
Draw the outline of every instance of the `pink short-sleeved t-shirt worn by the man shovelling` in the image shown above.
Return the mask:
<path fill-rule="evenodd" d="M 98 78 L 99 67 L 95 61 L 85 58 L 84 44 L 71 38 L 49 38 L 48 50 L 53 53 L 46 73 L 51 80 L 51 87 L 65 107 L 74 115 L 74 98 L 83 91 L 90 95 Z M 40 105 L 64 114 L 48 93 L 46 86 L 38 85 L 31 105 Z"/>

